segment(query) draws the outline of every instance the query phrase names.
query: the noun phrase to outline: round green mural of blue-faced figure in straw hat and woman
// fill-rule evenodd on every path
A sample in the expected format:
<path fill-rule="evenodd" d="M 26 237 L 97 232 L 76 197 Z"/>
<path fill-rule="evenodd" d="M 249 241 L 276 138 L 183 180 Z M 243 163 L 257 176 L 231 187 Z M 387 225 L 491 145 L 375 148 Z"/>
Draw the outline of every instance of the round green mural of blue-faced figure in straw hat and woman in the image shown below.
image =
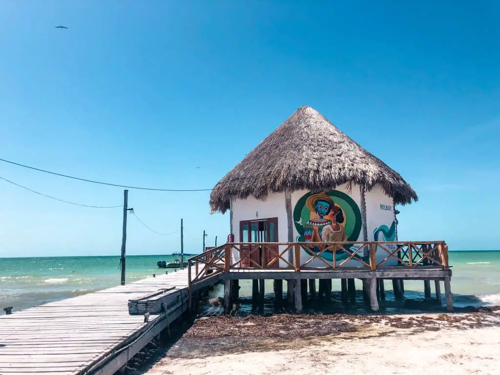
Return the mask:
<path fill-rule="evenodd" d="M 357 241 L 361 230 L 361 212 L 356 202 L 347 194 L 330 190 L 303 195 L 293 210 L 293 221 L 298 231 L 298 242 L 345 242 Z M 345 249 L 352 245 L 346 244 Z M 311 253 L 320 251 L 302 246 Z M 333 253 L 326 250 L 322 253 L 324 259 L 332 261 Z M 348 254 L 342 250 L 335 252 L 335 259 L 342 260 Z"/>

